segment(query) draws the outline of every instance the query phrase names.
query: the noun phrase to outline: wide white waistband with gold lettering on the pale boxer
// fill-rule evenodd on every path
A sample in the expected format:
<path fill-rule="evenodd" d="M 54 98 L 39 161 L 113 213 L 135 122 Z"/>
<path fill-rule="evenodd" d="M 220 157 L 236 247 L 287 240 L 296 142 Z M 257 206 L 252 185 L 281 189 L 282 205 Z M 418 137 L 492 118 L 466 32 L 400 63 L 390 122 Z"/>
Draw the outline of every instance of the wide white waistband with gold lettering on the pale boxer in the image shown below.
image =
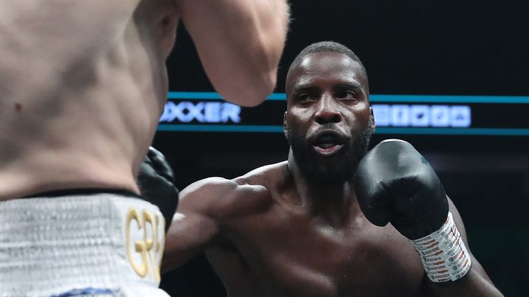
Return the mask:
<path fill-rule="evenodd" d="M 121 195 L 0 202 L 0 296 L 158 287 L 164 226 L 158 207 Z"/>

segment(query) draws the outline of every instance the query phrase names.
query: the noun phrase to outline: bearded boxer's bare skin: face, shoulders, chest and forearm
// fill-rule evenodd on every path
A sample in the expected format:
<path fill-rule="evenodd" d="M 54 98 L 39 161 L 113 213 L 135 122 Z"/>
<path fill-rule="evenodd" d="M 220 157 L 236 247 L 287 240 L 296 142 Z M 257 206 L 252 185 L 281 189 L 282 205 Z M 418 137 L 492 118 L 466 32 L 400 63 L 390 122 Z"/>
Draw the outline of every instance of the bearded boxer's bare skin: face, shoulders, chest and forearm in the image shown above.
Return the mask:
<path fill-rule="evenodd" d="M 286 90 L 286 130 L 307 137 L 307 147 L 325 124 L 346 135 L 344 146 L 374 129 L 367 78 L 345 54 L 305 56 L 289 74 Z M 329 174 L 346 157 L 343 151 L 315 149 L 334 154 L 311 159 L 315 169 Z M 292 149 L 287 162 L 233 180 L 204 179 L 180 197 L 163 270 L 205 250 L 231 297 L 501 296 L 474 256 L 465 278 L 441 285 L 429 281 L 405 236 L 391 224 L 377 227 L 364 217 L 353 178 L 309 180 Z M 449 208 L 468 246 L 451 201 Z"/>

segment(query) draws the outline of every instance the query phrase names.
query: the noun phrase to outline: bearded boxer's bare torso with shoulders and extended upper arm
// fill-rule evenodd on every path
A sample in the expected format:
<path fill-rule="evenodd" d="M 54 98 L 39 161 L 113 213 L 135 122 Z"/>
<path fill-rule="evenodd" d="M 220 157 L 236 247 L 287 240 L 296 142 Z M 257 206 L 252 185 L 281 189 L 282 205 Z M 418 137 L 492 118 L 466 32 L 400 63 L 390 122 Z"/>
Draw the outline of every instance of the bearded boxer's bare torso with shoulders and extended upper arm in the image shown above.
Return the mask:
<path fill-rule="evenodd" d="M 325 207 L 300 196 L 287 162 L 234 181 L 198 181 L 182 195 L 178 222 L 167 234 L 165 269 L 185 261 L 183 250 L 205 248 L 231 297 L 427 296 L 431 284 L 402 234 L 369 223 L 353 196 L 341 212 L 313 212 Z M 187 236 L 211 240 L 182 245 Z"/>

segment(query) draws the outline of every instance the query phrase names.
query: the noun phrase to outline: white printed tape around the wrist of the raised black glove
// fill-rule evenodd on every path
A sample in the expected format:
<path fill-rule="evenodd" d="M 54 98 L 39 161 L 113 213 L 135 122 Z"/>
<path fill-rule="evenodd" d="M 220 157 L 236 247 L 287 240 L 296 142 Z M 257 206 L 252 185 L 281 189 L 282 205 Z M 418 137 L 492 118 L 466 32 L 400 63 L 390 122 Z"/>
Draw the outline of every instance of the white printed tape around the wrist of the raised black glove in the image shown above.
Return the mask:
<path fill-rule="evenodd" d="M 411 240 L 411 243 L 421 256 L 426 275 L 434 283 L 457 281 L 472 266 L 470 254 L 450 212 L 439 230 L 422 239 Z"/>

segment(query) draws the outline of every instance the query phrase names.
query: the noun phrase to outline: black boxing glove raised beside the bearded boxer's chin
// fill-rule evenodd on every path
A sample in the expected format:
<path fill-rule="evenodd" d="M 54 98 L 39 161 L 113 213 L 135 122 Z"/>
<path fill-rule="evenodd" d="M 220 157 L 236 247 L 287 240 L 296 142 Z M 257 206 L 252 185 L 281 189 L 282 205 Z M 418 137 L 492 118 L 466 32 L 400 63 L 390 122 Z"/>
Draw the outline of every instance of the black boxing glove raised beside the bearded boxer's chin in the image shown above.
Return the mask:
<path fill-rule="evenodd" d="M 385 140 L 365 155 L 355 175 L 355 190 L 360 209 L 371 223 L 391 222 L 408 239 L 439 230 L 448 215 L 439 177 L 403 140 Z"/>

